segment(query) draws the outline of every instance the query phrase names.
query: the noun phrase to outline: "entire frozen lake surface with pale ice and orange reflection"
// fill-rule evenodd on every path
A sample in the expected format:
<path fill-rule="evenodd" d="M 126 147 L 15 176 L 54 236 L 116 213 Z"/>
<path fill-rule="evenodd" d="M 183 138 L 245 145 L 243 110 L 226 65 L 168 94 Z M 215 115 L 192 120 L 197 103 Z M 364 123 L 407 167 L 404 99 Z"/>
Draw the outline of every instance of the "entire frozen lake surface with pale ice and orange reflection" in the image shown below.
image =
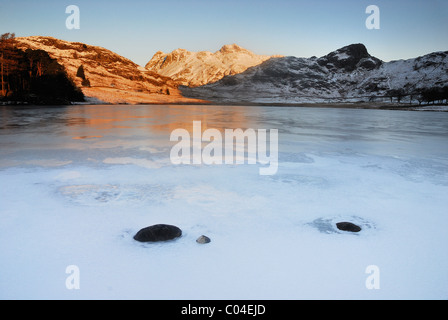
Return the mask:
<path fill-rule="evenodd" d="M 173 165 L 193 121 L 278 129 L 278 171 Z M 448 298 L 446 112 L 0 107 L 0 190 L 1 299 Z"/>

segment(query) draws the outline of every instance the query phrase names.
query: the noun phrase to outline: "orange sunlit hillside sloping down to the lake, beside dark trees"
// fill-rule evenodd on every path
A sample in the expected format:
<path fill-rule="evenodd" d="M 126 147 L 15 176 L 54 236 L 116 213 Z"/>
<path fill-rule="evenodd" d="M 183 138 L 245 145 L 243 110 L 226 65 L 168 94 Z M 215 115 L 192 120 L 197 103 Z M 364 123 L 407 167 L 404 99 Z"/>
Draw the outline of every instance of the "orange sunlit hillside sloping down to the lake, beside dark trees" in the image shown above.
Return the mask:
<path fill-rule="evenodd" d="M 130 104 L 198 102 L 184 98 L 170 78 L 105 48 L 42 36 L 16 40 L 19 49 L 44 50 L 56 59 L 86 97 Z"/>

